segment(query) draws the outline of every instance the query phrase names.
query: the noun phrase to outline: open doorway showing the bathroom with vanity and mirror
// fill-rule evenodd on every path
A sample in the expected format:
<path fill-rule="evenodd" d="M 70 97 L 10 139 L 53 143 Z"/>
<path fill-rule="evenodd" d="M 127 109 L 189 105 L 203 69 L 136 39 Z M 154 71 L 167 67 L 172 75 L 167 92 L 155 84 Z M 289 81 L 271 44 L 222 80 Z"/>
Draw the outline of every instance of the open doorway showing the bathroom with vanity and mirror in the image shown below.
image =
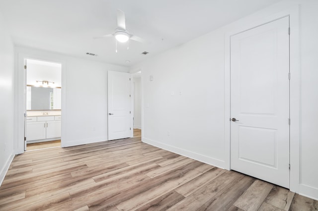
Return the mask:
<path fill-rule="evenodd" d="M 24 151 L 60 147 L 62 64 L 29 58 L 24 63 Z"/>

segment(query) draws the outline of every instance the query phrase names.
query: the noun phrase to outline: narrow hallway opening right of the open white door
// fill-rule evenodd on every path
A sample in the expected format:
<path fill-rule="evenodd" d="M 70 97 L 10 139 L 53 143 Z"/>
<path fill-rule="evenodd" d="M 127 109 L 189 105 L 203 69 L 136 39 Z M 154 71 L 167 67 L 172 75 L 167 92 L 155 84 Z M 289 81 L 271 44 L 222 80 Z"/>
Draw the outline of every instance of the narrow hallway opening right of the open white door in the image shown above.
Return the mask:
<path fill-rule="evenodd" d="M 141 137 L 141 104 L 142 104 L 142 86 L 141 71 L 133 74 L 134 90 L 134 138 Z"/>

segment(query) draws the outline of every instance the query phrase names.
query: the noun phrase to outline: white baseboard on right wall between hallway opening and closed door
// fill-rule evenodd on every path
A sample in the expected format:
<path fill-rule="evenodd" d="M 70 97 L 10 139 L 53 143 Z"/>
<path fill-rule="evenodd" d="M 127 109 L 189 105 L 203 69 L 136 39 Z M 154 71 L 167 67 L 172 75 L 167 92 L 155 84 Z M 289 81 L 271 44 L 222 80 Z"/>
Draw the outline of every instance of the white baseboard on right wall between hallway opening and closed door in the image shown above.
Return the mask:
<path fill-rule="evenodd" d="M 185 156 L 185 157 L 188 157 L 188 158 L 192 158 L 192 159 L 198 160 L 200 162 L 204 162 L 204 163 L 207 163 L 207 164 L 210 164 L 210 165 L 214 165 L 214 166 L 219 167 L 219 168 L 225 168 L 225 166 L 226 166 L 224 160 L 211 158 L 211 157 L 204 156 L 204 155 L 201 155 L 201 154 L 198 154 L 198 153 L 194 153 L 194 152 L 191 152 L 191 151 L 188 151 L 188 150 L 184 150 L 184 149 L 181 149 L 181 148 L 178 148 L 178 147 L 173 147 L 173 146 L 170 146 L 170 145 L 167 145 L 167 144 L 162 144 L 160 142 L 157 142 L 157 141 L 154 141 L 154 140 L 151 140 L 151 139 L 142 138 L 142 142 L 145 142 L 147 144 L 153 145 L 155 147 L 159 147 L 159 148 L 161 148 L 163 150 L 170 151 L 172 153 L 176 153 L 176 154 L 181 155 L 181 156 Z"/>

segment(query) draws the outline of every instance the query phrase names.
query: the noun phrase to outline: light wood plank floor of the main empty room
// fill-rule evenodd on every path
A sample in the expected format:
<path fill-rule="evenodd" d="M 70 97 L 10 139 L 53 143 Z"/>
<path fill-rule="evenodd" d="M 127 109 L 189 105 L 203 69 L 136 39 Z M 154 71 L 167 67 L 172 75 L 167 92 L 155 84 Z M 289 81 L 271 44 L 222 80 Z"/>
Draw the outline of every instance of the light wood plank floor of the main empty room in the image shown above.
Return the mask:
<path fill-rule="evenodd" d="M 140 137 L 29 151 L 0 187 L 1 211 L 313 211 L 318 202 Z"/>

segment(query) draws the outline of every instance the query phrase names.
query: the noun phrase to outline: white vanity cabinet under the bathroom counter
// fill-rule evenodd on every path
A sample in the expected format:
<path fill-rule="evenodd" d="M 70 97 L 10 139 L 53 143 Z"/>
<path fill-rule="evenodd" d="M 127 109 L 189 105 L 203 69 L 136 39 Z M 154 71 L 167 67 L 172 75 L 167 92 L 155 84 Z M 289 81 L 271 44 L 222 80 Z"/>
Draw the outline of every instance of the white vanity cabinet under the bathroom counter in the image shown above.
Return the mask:
<path fill-rule="evenodd" d="M 26 118 L 26 141 L 51 141 L 61 137 L 61 116 L 33 116 Z M 45 140 L 48 139 L 48 140 Z"/>

